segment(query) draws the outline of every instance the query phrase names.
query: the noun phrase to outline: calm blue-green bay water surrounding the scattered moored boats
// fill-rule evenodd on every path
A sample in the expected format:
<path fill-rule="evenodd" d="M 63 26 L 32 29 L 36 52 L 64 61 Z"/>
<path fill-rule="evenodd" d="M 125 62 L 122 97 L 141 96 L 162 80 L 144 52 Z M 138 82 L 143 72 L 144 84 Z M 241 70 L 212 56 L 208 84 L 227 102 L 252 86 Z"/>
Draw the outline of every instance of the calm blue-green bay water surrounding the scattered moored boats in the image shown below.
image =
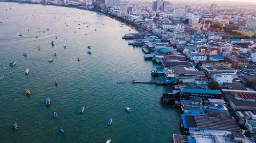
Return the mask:
<path fill-rule="evenodd" d="M 179 108 L 160 103 L 172 86 L 116 83 L 151 80 L 152 67 L 159 66 L 121 39 L 136 33 L 131 27 L 95 12 L 16 3 L 0 3 L 1 20 L 0 142 L 173 142 L 173 133 L 180 133 Z M 82 106 L 86 109 L 79 114 Z"/>

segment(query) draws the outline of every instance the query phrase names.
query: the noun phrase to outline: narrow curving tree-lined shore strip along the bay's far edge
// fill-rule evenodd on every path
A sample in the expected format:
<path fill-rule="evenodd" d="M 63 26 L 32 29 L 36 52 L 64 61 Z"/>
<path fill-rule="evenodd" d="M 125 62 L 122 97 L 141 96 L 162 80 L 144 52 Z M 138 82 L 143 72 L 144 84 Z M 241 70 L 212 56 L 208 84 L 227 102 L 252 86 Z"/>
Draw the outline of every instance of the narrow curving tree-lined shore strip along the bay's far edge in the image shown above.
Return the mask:
<path fill-rule="evenodd" d="M 28 2 L 24 2 L 24 3 L 20 3 L 20 2 L 10 2 L 10 1 L 0 1 L 0 2 L 4 2 L 4 3 L 17 3 L 17 4 L 34 4 L 34 5 L 42 5 L 42 6 L 58 6 L 58 7 L 66 7 L 66 8 L 75 8 L 75 9 L 80 9 L 80 10 L 88 10 L 88 11 L 91 11 L 91 12 L 96 12 L 96 13 L 98 13 L 98 14 L 102 14 L 102 15 L 105 15 L 105 16 L 108 16 L 108 17 L 110 17 L 110 18 L 113 18 L 113 19 L 115 19 L 115 20 L 117 20 L 117 21 L 120 21 L 120 22 L 122 22 L 122 23 L 124 23 L 124 24 L 126 24 L 126 25 L 130 25 L 130 27 L 134 27 L 134 29 L 138 32 L 138 33 L 140 33 L 140 31 L 139 31 L 139 29 L 138 29 L 138 27 L 136 27 L 136 26 L 134 26 L 134 25 L 132 25 L 132 24 L 130 24 L 130 23 L 127 23 L 127 22 L 125 22 L 125 21 L 123 21 L 122 19 L 120 19 L 120 18 L 118 18 L 118 16 L 117 17 L 113 17 L 112 15 L 110 15 L 109 13 L 103 13 L 103 12 L 101 12 L 101 11 L 96 11 L 96 10 L 92 10 L 92 9 L 86 9 L 86 8 L 79 8 L 79 6 L 71 6 L 71 7 L 69 7 L 69 6 L 66 6 L 66 5 L 47 5 L 47 4 L 37 4 L 37 3 L 28 3 Z M 132 21 L 131 21 L 132 22 Z M 134 23 L 134 22 L 133 22 Z M 135 23 L 134 23 L 135 24 Z M 136 24 L 137 25 L 137 24 Z"/>

